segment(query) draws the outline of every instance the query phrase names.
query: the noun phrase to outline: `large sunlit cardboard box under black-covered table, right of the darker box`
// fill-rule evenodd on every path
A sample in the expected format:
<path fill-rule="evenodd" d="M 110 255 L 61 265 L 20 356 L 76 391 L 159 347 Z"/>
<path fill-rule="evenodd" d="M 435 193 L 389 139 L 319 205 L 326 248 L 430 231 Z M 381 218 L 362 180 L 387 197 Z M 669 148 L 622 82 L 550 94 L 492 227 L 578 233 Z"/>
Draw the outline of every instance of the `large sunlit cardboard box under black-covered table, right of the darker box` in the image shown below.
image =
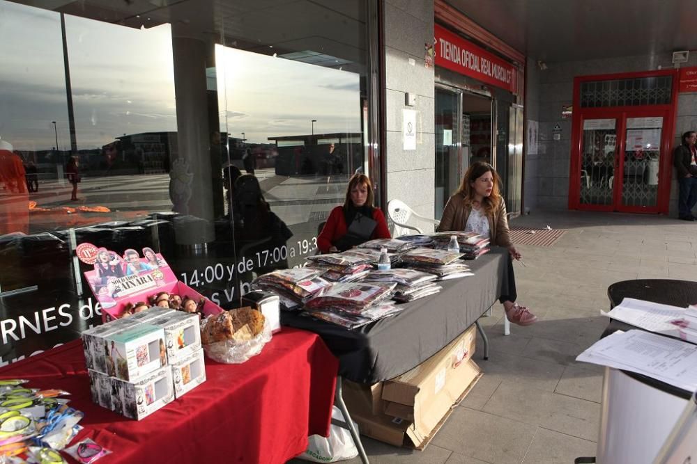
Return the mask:
<path fill-rule="evenodd" d="M 385 414 L 411 421 L 418 436 L 429 436 L 480 374 L 470 360 L 476 336 L 471 326 L 422 364 L 385 381 Z"/>

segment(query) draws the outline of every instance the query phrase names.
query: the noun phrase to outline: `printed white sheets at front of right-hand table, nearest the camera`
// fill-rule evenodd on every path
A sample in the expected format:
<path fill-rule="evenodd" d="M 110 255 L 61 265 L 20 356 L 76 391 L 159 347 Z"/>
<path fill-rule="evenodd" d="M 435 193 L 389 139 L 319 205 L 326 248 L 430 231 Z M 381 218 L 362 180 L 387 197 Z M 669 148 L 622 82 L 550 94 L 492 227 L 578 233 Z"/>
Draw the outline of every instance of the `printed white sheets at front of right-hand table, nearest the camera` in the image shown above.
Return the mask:
<path fill-rule="evenodd" d="M 690 392 L 697 390 L 697 346 L 644 330 L 615 332 L 576 360 L 636 372 Z"/>

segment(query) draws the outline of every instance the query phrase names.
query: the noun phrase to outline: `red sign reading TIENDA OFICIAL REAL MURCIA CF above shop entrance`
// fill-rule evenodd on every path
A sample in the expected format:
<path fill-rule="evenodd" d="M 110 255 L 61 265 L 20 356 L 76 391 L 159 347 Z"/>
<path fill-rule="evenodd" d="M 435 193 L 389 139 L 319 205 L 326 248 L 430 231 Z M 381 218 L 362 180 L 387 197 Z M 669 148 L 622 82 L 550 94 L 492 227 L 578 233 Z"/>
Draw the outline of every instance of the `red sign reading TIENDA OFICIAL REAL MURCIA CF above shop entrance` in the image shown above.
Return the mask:
<path fill-rule="evenodd" d="M 516 68 L 464 38 L 435 25 L 436 65 L 516 92 Z"/>

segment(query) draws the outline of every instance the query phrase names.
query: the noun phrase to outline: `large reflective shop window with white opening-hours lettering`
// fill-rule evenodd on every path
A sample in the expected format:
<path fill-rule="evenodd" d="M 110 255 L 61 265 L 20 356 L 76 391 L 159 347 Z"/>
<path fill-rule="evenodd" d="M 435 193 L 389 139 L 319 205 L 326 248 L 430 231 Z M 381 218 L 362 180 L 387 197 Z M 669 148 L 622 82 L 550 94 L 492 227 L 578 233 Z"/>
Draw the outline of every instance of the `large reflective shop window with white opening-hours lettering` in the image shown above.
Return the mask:
<path fill-rule="evenodd" d="M 0 1 L 1 362 L 99 323 L 79 243 L 223 307 L 316 252 L 367 171 L 367 1 L 29 3 Z"/>

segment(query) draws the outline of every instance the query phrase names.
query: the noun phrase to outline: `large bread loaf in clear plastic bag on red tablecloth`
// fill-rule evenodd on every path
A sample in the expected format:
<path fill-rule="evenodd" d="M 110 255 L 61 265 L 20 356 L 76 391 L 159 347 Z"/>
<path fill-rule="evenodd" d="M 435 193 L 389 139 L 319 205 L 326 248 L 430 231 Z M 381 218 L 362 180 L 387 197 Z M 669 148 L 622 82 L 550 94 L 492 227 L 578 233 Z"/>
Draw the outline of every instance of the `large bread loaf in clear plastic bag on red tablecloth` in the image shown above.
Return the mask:
<path fill-rule="evenodd" d="M 206 355 L 225 364 L 241 364 L 258 355 L 270 339 L 268 321 L 250 307 L 223 311 L 201 322 L 201 344 Z"/>

